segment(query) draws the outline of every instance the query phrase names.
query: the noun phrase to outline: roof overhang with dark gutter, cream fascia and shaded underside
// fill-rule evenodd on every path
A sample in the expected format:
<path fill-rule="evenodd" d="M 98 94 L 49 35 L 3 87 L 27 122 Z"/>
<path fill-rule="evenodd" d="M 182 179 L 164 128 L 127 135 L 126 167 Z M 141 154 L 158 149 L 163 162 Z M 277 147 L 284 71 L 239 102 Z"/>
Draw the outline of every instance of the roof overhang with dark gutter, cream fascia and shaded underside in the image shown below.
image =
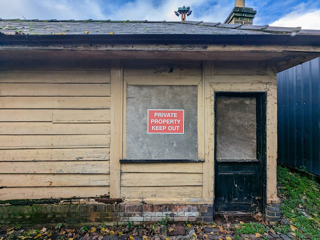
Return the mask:
<path fill-rule="evenodd" d="M 319 35 L 0 35 L 0 68 L 46 59 L 265 61 L 281 71 L 320 56 Z M 4 63 L 6 62 L 6 63 Z"/>

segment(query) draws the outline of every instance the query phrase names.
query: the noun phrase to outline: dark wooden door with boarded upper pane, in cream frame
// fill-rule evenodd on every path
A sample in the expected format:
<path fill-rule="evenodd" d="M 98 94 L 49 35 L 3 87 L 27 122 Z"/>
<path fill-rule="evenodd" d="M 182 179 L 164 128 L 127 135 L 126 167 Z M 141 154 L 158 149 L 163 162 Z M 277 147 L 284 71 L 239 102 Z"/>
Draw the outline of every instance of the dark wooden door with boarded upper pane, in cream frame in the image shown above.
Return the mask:
<path fill-rule="evenodd" d="M 215 95 L 215 211 L 263 211 L 265 94 Z"/>

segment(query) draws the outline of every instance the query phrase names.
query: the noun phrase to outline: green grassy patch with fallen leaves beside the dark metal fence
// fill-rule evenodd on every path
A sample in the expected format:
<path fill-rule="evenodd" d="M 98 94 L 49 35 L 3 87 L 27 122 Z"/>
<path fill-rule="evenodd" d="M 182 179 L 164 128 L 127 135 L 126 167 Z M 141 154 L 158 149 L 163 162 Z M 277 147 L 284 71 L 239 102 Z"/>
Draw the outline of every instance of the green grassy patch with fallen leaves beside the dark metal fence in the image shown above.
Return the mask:
<path fill-rule="evenodd" d="M 320 239 L 320 185 L 282 166 L 277 167 L 277 180 L 281 214 L 297 227 L 296 235 Z M 288 225 L 277 227 L 283 232 L 289 230 Z"/>

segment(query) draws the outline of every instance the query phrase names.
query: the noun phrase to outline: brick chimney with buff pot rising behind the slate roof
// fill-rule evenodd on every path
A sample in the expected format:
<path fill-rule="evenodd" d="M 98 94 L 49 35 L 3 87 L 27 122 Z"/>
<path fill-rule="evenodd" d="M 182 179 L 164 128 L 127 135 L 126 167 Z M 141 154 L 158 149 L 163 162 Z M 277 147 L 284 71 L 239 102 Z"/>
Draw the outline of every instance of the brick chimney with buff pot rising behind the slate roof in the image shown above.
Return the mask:
<path fill-rule="evenodd" d="M 252 25 L 256 11 L 245 7 L 244 0 L 235 0 L 234 8 L 224 23 Z"/>

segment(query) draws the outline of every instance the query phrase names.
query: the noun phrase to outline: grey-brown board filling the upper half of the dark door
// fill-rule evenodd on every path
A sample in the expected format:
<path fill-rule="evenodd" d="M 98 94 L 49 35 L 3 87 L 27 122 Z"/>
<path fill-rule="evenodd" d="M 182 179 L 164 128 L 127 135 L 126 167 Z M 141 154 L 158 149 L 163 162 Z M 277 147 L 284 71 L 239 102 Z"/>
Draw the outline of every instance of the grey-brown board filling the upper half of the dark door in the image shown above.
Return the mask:
<path fill-rule="evenodd" d="M 215 110 L 216 159 L 256 159 L 255 97 L 218 96 Z"/>

